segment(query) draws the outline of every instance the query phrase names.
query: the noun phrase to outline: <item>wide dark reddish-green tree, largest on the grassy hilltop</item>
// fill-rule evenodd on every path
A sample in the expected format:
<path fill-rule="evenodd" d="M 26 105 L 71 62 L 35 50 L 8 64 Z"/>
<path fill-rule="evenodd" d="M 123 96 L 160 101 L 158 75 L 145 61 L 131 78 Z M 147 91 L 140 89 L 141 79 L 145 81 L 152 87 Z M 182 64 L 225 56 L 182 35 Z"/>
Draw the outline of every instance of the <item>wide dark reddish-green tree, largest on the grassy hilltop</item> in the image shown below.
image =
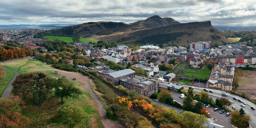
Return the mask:
<path fill-rule="evenodd" d="M 52 92 L 54 79 L 43 72 L 25 73 L 13 81 L 13 94 L 23 101 L 29 99 L 34 105 L 43 103 Z"/>

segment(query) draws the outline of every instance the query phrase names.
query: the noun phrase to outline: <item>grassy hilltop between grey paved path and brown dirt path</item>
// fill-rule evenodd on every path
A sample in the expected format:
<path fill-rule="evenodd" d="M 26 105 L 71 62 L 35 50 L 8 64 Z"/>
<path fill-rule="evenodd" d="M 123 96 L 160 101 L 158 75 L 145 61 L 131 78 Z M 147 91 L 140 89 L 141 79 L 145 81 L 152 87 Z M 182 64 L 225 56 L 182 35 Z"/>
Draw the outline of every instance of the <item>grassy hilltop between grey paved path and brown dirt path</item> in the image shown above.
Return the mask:
<path fill-rule="evenodd" d="M 45 72 L 49 76 L 52 77 L 61 77 L 61 76 L 55 76 L 54 71 L 56 69 L 52 68 L 50 65 L 46 65 L 42 63 L 41 61 L 34 61 L 32 59 L 27 60 L 19 60 L 11 63 L 7 63 L 4 65 L 6 67 L 9 67 L 13 70 L 16 70 L 20 72 L 20 74 L 26 73 L 26 72 Z M 74 75 L 82 75 L 75 72 L 70 72 L 70 74 Z M 72 80 L 71 80 L 72 81 Z M 81 86 L 81 83 L 78 81 L 72 81 L 72 83 L 78 87 Z M 96 104 L 92 100 L 92 97 L 90 96 L 89 92 L 87 90 L 83 90 L 83 95 L 79 97 L 79 99 L 65 99 L 66 103 L 75 103 L 79 106 L 81 106 L 86 113 L 87 118 L 85 119 L 84 123 L 81 125 L 83 128 L 103 128 L 103 124 L 101 123 L 99 113 L 97 111 Z M 54 114 L 56 113 L 56 110 L 61 106 L 59 104 L 59 99 L 52 99 L 49 100 L 49 103 L 45 103 L 45 105 L 42 105 L 40 107 L 36 106 L 30 106 L 27 105 L 26 107 L 22 108 L 22 113 L 29 117 L 32 121 L 31 128 L 34 127 L 55 127 L 55 128 L 65 128 L 67 126 L 63 126 L 62 124 L 58 124 L 57 122 L 52 122 L 52 117 L 54 117 Z"/>

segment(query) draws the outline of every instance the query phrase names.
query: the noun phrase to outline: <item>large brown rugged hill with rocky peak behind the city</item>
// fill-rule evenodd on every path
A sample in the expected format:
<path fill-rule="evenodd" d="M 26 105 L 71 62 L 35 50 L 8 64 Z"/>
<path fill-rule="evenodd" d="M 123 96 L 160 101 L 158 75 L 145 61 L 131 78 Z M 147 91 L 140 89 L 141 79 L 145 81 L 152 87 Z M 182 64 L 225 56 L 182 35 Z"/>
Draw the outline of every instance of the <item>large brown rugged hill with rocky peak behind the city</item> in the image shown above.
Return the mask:
<path fill-rule="evenodd" d="M 172 18 L 152 16 L 146 20 L 125 24 L 124 22 L 88 22 L 80 25 L 47 31 L 49 35 L 86 37 L 91 40 L 107 40 L 125 45 L 179 44 L 212 41 L 221 44 L 233 42 L 226 38 L 211 21 L 180 23 Z"/>

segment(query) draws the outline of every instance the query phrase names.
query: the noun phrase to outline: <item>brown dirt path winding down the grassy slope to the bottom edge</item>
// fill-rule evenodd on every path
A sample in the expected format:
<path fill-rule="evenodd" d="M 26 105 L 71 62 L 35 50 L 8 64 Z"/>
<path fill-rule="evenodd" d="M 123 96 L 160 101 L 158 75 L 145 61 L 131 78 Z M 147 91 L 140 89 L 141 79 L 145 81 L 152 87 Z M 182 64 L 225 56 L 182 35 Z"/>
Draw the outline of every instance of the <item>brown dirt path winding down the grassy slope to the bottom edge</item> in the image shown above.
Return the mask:
<path fill-rule="evenodd" d="M 67 72 L 61 72 L 61 71 L 59 71 L 59 73 L 61 74 L 61 76 L 66 76 L 69 79 L 73 79 L 75 77 L 77 81 L 79 81 L 83 84 L 82 88 L 85 90 L 88 90 L 88 92 L 92 96 L 92 99 L 96 103 L 97 108 L 99 110 L 99 115 L 101 117 L 101 122 L 103 123 L 105 128 L 124 128 L 124 126 L 121 125 L 119 121 L 113 122 L 110 119 L 106 118 L 106 116 L 105 116 L 106 110 L 104 109 L 103 104 L 101 103 L 101 101 L 99 100 L 97 95 L 94 92 L 92 92 L 91 85 L 89 83 L 89 78 L 87 76 L 79 76 L 79 77 L 72 76 L 72 75 L 68 74 Z"/>

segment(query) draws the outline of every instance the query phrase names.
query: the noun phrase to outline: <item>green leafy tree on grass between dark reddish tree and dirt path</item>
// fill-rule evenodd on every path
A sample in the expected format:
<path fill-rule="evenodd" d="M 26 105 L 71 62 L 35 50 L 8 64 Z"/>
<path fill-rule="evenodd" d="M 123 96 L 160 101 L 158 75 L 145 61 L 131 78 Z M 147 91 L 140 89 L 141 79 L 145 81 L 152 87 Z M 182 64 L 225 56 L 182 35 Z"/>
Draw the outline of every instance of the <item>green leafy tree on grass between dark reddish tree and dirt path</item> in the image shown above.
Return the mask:
<path fill-rule="evenodd" d="M 63 98 L 69 97 L 78 98 L 82 92 L 79 88 L 74 87 L 74 85 L 65 78 L 58 78 L 55 85 L 55 95 L 61 98 L 61 103 L 64 103 Z"/>

